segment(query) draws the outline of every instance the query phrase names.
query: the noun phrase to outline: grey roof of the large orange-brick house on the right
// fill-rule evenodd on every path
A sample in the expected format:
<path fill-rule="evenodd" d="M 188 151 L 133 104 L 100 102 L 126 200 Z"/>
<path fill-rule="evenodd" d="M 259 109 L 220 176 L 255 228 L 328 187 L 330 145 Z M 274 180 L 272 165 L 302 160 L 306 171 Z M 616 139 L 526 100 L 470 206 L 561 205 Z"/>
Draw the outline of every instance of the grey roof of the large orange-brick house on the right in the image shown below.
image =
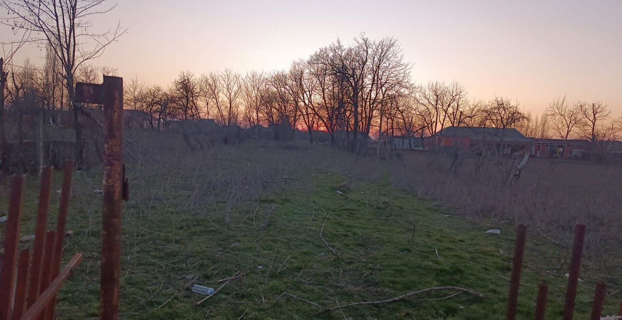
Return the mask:
<path fill-rule="evenodd" d="M 529 142 L 531 139 L 521 134 L 514 128 L 493 127 L 447 127 L 437 133 L 439 137 L 468 137 L 471 140 Z"/>

